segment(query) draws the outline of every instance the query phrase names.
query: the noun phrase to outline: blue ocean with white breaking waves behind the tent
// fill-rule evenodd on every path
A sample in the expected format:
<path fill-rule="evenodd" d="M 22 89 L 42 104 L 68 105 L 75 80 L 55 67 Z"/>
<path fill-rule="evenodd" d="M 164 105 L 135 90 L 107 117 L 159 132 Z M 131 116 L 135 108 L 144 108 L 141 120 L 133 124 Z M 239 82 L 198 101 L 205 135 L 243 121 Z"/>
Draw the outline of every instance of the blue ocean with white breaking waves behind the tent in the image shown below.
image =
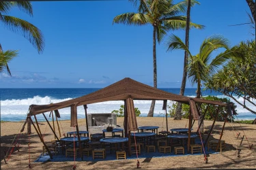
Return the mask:
<path fill-rule="evenodd" d="M 180 93 L 180 88 L 159 88 L 160 90 L 165 90 L 167 92 L 172 92 L 174 94 Z M 26 118 L 29 110 L 29 105 L 46 105 L 50 103 L 57 103 L 61 101 L 66 101 L 69 99 L 74 99 L 76 97 L 81 97 L 83 95 L 88 95 L 91 92 L 100 90 L 100 88 L 0 88 L 0 112 L 1 120 L 4 121 L 20 121 Z M 195 97 L 196 88 L 186 88 L 185 94 L 188 97 Z M 203 96 L 225 96 L 219 92 L 214 92 L 211 90 L 204 90 L 202 92 Z M 228 97 L 226 97 L 228 98 Z M 238 97 L 237 97 L 238 99 Z M 241 99 L 238 99 L 242 101 Z M 231 99 L 233 103 L 236 103 Z M 172 104 L 172 101 L 167 102 L 168 105 Z M 134 106 L 138 107 L 141 111 L 141 116 L 147 116 L 150 109 L 151 101 L 134 101 Z M 120 105 L 124 105 L 123 101 L 107 101 L 102 103 L 94 103 L 87 105 L 87 113 L 111 113 L 115 109 L 119 109 Z M 237 112 L 239 120 L 254 120 L 256 118 L 255 114 L 248 112 L 242 106 L 237 104 Z M 252 109 L 256 109 L 253 105 L 249 105 Z M 59 109 L 61 114 L 61 120 L 70 119 L 70 108 Z M 48 115 L 48 114 L 46 114 Z M 164 116 L 164 111 L 162 110 L 162 101 L 156 101 L 156 106 L 154 109 L 154 116 Z M 39 121 L 44 120 L 42 115 L 37 116 Z M 78 118 L 85 118 L 85 111 L 83 106 L 78 107 Z"/>

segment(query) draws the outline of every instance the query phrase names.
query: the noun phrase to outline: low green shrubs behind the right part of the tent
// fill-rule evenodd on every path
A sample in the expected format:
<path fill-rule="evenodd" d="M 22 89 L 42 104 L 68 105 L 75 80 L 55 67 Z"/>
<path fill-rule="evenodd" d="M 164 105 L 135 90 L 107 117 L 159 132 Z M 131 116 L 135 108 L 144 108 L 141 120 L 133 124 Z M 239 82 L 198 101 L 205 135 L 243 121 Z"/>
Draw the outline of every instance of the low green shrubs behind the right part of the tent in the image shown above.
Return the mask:
<path fill-rule="evenodd" d="M 218 98 L 215 96 L 203 97 L 203 99 L 207 99 L 210 101 L 222 101 L 223 103 L 230 102 L 230 100 L 227 98 Z M 169 116 L 171 116 L 171 118 L 173 118 L 173 116 L 175 114 L 176 107 L 177 107 L 177 102 L 173 103 L 171 106 L 168 105 L 168 108 L 169 108 L 168 113 L 169 113 Z M 207 107 L 207 104 L 205 104 L 205 103 L 203 103 L 201 105 L 203 113 L 204 113 L 206 107 Z M 235 108 L 236 108 L 236 105 L 235 105 Z M 208 112 L 206 112 L 206 114 L 205 114 L 205 120 L 214 120 L 215 114 L 216 114 L 216 107 L 214 105 L 209 105 Z M 224 121 L 225 118 L 223 118 L 223 116 L 226 116 L 226 114 L 227 114 L 227 112 L 226 112 L 225 107 L 220 107 L 217 121 Z M 182 118 L 188 118 L 188 116 L 189 116 L 189 105 L 182 104 Z M 229 120 L 229 121 L 231 120 L 229 118 L 229 116 L 227 116 L 227 120 Z"/>

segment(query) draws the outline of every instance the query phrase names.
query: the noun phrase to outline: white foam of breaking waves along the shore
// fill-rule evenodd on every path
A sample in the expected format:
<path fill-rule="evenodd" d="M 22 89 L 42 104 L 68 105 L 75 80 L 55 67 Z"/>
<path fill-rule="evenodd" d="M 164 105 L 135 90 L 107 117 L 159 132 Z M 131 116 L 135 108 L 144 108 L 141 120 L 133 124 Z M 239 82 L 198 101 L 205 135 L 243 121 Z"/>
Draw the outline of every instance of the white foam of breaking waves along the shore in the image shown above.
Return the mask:
<path fill-rule="evenodd" d="M 190 96 L 190 97 L 195 97 L 195 96 Z M 218 95 L 217 97 L 222 97 L 224 98 L 224 95 Z M 1 115 L 2 118 L 4 116 L 12 117 L 14 115 L 16 116 L 22 116 L 27 114 L 29 105 L 35 104 L 35 105 L 46 105 L 50 103 L 58 103 L 61 101 L 67 101 L 72 98 L 67 98 L 67 99 L 53 99 L 51 97 L 40 97 L 40 96 L 35 96 L 33 98 L 28 98 L 28 99 L 12 99 L 12 100 L 4 100 L 1 101 Z M 238 99 L 238 98 L 236 98 Z M 231 99 L 232 102 L 236 103 Z M 238 99 L 238 101 L 243 101 L 242 98 Z M 168 101 L 168 105 L 171 105 L 173 101 Z M 141 116 L 147 116 L 147 113 L 150 109 L 150 104 L 151 101 L 143 101 L 143 100 L 135 100 L 134 101 L 134 106 L 138 107 L 139 110 L 141 111 Z M 111 113 L 114 109 L 119 109 L 120 105 L 124 105 L 124 101 L 106 101 L 106 102 L 101 102 L 101 103 L 94 103 L 87 105 L 87 113 L 92 114 L 92 113 Z M 238 104 L 237 104 L 238 105 Z M 248 103 L 248 107 L 250 107 L 253 110 L 256 110 L 256 107 Z M 239 116 L 243 117 L 243 119 L 253 119 L 256 116 L 254 114 L 251 114 L 248 112 L 248 110 L 244 109 L 242 106 L 238 105 L 236 108 Z M 59 112 L 61 115 L 65 115 L 67 118 L 70 115 L 70 108 L 63 108 L 59 109 Z M 154 109 L 154 116 L 162 116 L 164 114 L 162 110 L 162 101 L 156 101 L 155 109 Z M 78 107 L 78 114 L 79 116 L 83 116 L 85 114 L 85 111 L 83 109 L 83 106 Z"/>

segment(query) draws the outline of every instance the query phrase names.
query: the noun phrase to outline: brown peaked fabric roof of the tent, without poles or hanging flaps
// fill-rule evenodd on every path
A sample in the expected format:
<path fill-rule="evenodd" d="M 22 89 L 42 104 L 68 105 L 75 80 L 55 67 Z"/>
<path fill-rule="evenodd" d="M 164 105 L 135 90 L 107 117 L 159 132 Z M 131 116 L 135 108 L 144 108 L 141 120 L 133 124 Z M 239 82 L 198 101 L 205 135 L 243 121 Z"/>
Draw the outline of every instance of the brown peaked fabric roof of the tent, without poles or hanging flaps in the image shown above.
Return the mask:
<path fill-rule="evenodd" d="M 141 82 L 132 80 L 130 78 L 124 78 L 123 80 L 115 82 L 114 84 L 111 84 L 106 88 L 102 88 L 101 90 L 92 92 L 89 95 L 78 97 L 76 99 L 71 99 L 60 103 L 52 103 L 48 105 L 30 105 L 29 114 L 42 114 L 44 112 L 50 112 L 65 107 L 71 107 L 75 103 L 77 107 L 79 105 L 87 105 L 103 101 L 119 101 L 126 100 L 128 98 L 131 98 L 133 100 L 171 100 L 186 104 L 189 104 L 190 101 L 189 97 L 175 95 L 171 92 L 159 90 L 152 86 L 148 86 L 146 84 L 142 84 Z M 210 103 L 223 106 L 227 105 L 220 101 L 208 101 L 205 99 L 197 98 L 193 98 L 193 101 L 195 101 L 196 103 Z"/>

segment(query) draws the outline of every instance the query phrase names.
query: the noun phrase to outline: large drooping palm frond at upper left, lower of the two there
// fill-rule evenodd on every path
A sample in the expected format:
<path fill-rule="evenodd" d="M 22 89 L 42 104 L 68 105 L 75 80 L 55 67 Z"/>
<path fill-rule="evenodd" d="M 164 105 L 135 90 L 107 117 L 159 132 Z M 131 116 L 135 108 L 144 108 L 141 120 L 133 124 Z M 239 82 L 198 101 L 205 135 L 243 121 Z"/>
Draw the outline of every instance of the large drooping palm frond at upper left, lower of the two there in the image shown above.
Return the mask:
<path fill-rule="evenodd" d="M 44 39 L 42 33 L 40 29 L 35 27 L 33 24 L 14 16 L 3 16 L 2 21 L 3 24 L 5 24 L 11 31 L 21 31 L 23 33 L 23 37 L 28 39 L 29 42 L 37 48 L 39 53 L 44 50 Z"/>

